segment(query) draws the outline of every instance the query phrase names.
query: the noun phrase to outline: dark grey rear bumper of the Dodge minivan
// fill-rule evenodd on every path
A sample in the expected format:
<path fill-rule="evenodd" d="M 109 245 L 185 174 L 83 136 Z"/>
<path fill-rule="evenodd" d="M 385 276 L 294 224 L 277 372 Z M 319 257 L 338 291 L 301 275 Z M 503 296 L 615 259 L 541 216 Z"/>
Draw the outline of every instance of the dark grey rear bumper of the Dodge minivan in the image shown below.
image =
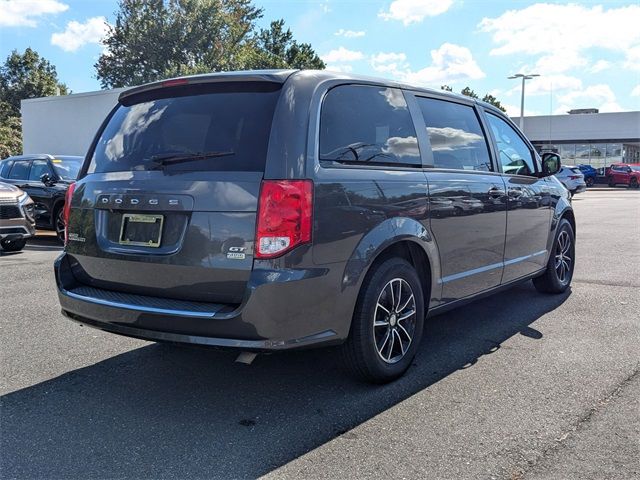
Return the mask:
<path fill-rule="evenodd" d="M 351 314 L 336 311 L 327 269 L 254 271 L 241 305 L 181 302 L 78 286 L 68 257 L 54 265 L 62 313 L 104 331 L 166 341 L 250 351 L 275 351 L 340 343 Z M 273 280 L 277 277 L 278 280 Z M 335 292 L 337 293 L 337 292 Z"/>

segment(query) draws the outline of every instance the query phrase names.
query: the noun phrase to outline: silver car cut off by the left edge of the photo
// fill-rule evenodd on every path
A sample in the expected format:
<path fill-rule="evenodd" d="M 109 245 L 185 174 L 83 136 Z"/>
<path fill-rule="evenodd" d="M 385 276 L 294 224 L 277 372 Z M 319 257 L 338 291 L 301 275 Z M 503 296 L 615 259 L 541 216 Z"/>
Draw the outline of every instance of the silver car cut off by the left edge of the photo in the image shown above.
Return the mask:
<path fill-rule="evenodd" d="M 35 233 L 33 200 L 18 187 L 0 182 L 0 247 L 17 252 Z"/>

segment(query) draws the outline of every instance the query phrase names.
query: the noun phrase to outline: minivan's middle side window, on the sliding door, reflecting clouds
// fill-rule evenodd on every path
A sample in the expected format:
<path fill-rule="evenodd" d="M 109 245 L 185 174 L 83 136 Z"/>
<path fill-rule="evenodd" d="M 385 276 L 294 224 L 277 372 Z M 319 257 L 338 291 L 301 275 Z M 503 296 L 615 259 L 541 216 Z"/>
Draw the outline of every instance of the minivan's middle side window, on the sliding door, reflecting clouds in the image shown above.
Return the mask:
<path fill-rule="evenodd" d="M 480 121 L 472 107 L 418 98 L 427 126 L 434 166 L 491 171 L 491 157 Z"/>

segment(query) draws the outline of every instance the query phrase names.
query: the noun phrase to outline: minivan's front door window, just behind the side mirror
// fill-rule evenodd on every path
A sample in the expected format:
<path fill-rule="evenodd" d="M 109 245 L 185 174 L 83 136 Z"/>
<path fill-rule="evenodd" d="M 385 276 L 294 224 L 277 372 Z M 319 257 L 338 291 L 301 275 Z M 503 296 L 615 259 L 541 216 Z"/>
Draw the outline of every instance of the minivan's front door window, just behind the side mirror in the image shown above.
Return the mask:
<path fill-rule="evenodd" d="M 487 115 L 493 136 L 496 139 L 502 171 L 512 175 L 531 175 L 536 169 L 533 156 L 518 132 L 501 118 Z"/>

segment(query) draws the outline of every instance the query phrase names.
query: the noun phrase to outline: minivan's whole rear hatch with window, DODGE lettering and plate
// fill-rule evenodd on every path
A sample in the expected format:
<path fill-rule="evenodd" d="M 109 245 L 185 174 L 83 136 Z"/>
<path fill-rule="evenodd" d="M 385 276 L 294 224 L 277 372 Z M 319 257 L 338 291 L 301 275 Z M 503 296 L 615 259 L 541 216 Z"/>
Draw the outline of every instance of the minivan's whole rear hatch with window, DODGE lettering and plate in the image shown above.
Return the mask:
<path fill-rule="evenodd" d="M 240 303 L 281 84 L 233 81 L 121 98 L 77 183 L 67 252 L 82 284 Z"/>

